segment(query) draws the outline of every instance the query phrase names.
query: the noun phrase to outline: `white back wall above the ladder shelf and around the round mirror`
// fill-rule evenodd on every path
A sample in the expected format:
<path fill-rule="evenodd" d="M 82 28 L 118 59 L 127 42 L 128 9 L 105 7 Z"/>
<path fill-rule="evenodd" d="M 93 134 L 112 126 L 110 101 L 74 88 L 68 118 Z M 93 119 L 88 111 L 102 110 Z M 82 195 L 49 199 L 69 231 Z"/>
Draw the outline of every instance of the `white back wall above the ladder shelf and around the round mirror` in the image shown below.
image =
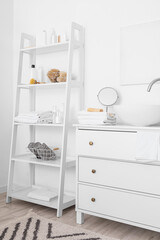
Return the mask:
<path fill-rule="evenodd" d="M 85 27 L 85 106 L 100 106 L 97 93 L 115 87 L 120 103 L 160 103 L 160 87 L 150 94 L 146 85 L 120 86 L 120 27 L 160 19 L 159 0 L 15 0 L 14 71 L 20 32 L 35 34 L 54 27 L 68 31 L 71 21 Z M 16 72 L 14 73 L 16 76 Z"/>

